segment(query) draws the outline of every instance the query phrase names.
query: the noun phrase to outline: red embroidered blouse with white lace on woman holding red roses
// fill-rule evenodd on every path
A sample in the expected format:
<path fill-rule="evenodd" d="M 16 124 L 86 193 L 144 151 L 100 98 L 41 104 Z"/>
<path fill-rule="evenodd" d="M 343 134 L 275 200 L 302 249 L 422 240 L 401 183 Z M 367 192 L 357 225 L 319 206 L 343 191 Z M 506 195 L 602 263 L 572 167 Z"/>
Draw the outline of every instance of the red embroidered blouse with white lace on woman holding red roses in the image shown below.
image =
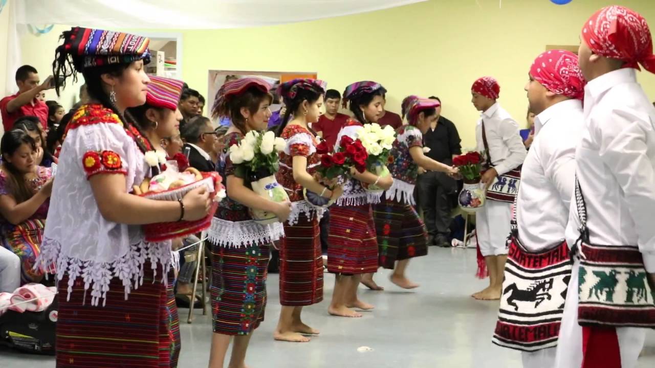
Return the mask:
<path fill-rule="evenodd" d="M 312 219 L 314 213 L 322 217 L 325 210 L 316 208 L 303 196 L 303 186 L 293 179 L 293 156 L 303 156 L 307 158 L 307 172 L 310 175 L 316 173 L 316 168 L 320 164 L 320 155 L 316 153 L 316 137 L 307 128 L 299 125 L 288 125 L 280 135 L 286 142 L 286 148 L 280 153 L 280 171 L 275 175 L 278 183 L 284 187 L 291 201 L 291 214 L 289 215 L 289 225 L 295 225 L 298 222 L 298 215 L 305 215 Z M 320 194 L 320 193 L 319 193 Z"/>

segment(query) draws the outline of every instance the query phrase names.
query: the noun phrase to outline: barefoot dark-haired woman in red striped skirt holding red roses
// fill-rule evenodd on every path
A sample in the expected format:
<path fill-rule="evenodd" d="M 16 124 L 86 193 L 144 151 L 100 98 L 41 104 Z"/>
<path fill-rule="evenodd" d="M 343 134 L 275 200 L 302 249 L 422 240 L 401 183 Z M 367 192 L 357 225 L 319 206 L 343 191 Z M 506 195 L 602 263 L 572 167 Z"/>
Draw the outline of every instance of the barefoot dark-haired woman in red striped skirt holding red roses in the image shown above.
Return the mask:
<path fill-rule="evenodd" d="M 284 223 L 285 237 L 280 239 L 280 321 L 274 333 L 276 340 L 307 342 L 303 335 L 317 335 L 301 320 L 303 306 L 323 300 L 323 254 L 318 221 L 324 209 L 305 200 L 307 188 L 327 200 L 335 200 L 341 187 L 331 191 L 314 179 L 320 155 L 316 153 L 316 137 L 309 123 L 317 122 L 323 104 L 325 82 L 316 79 L 293 79 L 280 86 L 287 113 L 278 126 L 286 149 L 280 153 L 278 181 L 291 200 L 291 215 Z M 290 115 L 293 120 L 289 121 Z"/>

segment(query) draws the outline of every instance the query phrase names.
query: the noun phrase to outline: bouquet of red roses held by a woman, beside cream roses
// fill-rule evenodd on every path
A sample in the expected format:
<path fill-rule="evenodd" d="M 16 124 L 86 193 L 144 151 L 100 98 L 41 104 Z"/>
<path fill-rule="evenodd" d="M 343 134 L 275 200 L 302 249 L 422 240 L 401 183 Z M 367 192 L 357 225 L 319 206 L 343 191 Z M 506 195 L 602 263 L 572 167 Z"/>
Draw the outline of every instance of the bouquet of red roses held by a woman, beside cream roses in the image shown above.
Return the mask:
<path fill-rule="evenodd" d="M 343 183 L 350 176 L 350 168 L 355 168 L 358 172 L 366 170 L 368 153 L 359 139 L 353 140 L 343 136 L 339 146 L 331 151 L 326 141 L 316 146 L 316 153 L 322 155 L 321 164 L 316 169 L 322 181 L 333 182 L 336 179 L 338 183 Z"/>

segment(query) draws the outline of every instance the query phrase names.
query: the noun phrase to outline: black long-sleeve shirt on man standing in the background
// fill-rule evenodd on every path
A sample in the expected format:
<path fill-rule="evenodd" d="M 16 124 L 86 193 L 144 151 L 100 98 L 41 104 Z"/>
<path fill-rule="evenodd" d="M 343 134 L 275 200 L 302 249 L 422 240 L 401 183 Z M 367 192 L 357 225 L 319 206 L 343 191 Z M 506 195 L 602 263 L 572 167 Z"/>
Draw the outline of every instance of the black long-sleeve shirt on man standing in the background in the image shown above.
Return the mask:
<path fill-rule="evenodd" d="M 455 124 L 445 117 L 439 117 L 437 127 L 423 135 L 423 146 L 430 147 L 426 156 L 447 165 L 453 164 L 453 155 L 462 154 L 461 142 Z"/>

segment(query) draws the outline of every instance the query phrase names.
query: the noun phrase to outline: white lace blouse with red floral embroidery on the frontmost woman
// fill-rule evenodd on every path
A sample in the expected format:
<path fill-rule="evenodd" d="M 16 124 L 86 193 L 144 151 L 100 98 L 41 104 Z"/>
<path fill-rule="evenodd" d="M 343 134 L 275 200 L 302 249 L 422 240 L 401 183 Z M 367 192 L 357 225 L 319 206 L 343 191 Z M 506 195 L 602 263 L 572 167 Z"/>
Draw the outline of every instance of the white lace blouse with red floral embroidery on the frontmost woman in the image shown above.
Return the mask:
<path fill-rule="evenodd" d="M 129 193 L 149 170 L 134 138 L 110 113 L 99 105 L 86 105 L 69 123 L 40 255 L 41 263 L 55 263 L 57 280 L 69 276 L 68 297 L 75 280 L 83 278 L 84 289 L 91 290 L 92 305 L 105 299 L 114 277 L 122 281 L 127 299 L 132 287 L 143 282 L 147 261 L 155 272 L 163 270 L 160 276 L 166 282 L 172 261 L 170 241 L 146 243 L 140 226 L 107 221 L 98 209 L 90 177 L 125 175 Z"/>

